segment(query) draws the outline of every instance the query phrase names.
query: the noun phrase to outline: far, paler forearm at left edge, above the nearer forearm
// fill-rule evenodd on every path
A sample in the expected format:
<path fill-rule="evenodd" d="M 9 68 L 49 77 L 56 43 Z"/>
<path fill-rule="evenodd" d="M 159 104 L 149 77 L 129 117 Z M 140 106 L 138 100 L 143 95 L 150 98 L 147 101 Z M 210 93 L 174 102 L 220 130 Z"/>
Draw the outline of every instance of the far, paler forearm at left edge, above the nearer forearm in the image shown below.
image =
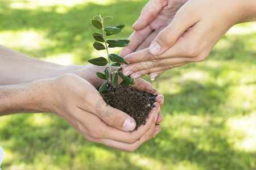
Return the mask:
<path fill-rule="evenodd" d="M 0 85 L 26 83 L 57 76 L 60 75 L 62 67 L 0 46 Z"/>

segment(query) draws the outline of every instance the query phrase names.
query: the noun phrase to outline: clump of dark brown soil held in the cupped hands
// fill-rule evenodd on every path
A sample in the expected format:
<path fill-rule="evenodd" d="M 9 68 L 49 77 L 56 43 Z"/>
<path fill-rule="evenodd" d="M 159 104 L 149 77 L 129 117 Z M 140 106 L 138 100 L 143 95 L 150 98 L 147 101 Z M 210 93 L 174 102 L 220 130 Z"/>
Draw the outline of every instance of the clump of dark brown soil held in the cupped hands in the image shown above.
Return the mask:
<path fill-rule="evenodd" d="M 153 104 L 157 95 L 137 91 L 133 87 L 119 85 L 116 88 L 109 86 L 101 96 L 113 108 L 133 117 L 137 124 L 135 130 L 137 130 L 139 126 L 146 124 L 148 113 L 155 107 Z"/>

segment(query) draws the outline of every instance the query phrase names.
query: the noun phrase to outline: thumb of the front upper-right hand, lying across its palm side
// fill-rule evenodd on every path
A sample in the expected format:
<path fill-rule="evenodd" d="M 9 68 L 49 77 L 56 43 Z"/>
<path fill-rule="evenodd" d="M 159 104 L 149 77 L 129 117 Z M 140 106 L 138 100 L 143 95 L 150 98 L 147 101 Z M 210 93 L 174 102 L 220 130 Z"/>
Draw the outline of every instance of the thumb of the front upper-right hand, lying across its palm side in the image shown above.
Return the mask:
<path fill-rule="evenodd" d="M 148 49 L 151 54 L 157 56 L 166 52 L 189 27 L 197 22 L 195 18 L 184 13 L 177 12 L 174 20 L 158 33 Z"/>

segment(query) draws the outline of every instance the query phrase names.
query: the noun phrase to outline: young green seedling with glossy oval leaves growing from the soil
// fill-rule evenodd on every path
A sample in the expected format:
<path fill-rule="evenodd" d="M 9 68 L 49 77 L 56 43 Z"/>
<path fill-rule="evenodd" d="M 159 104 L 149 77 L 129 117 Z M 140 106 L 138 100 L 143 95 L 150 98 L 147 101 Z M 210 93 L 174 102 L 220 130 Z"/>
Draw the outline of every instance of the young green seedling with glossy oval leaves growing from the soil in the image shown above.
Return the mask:
<path fill-rule="evenodd" d="M 135 84 L 134 80 L 130 78 L 130 76 L 124 76 L 120 71 L 122 70 L 122 67 L 120 67 L 120 63 L 125 63 L 126 65 L 129 65 L 123 59 L 122 56 L 119 56 L 118 54 L 112 53 L 109 54 L 108 48 L 114 48 L 114 47 L 123 47 L 129 45 L 130 40 L 127 39 L 119 39 L 119 40 L 106 40 L 107 36 L 111 36 L 117 33 L 122 32 L 122 28 L 125 27 L 125 24 L 119 24 L 115 27 L 104 27 L 104 22 L 112 20 L 113 18 L 111 16 L 106 16 L 105 18 L 102 18 L 101 15 L 93 16 L 93 19 L 90 21 L 92 22 L 92 25 L 97 28 L 101 29 L 102 33 L 94 32 L 92 34 L 93 38 L 96 40 L 93 43 L 93 47 L 96 50 L 106 50 L 106 54 L 108 56 L 108 60 L 104 57 L 98 57 L 89 59 L 88 62 L 92 63 L 93 65 L 97 66 L 106 66 L 106 69 L 103 73 L 96 72 L 96 75 L 98 78 L 106 80 L 105 83 L 103 83 L 99 89 L 99 92 L 105 92 L 106 88 L 108 86 L 108 83 L 110 83 L 110 86 L 117 87 L 118 83 L 118 75 L 123 79 L 120 84 L 125 84 L 126 86 L 129 86 L 129 84 Z M 111 66 L 118 66 L 119 69 L 117 71 L 112 71 Z M 114 75 L 114 78 L 112 76 Z"/>

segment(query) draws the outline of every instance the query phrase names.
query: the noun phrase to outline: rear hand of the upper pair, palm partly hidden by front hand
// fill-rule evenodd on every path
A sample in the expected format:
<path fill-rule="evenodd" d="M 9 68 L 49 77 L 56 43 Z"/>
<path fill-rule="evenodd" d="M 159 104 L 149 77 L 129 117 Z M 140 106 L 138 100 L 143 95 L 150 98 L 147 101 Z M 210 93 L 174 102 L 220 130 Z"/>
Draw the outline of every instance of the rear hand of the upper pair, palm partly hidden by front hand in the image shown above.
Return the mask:
<path fill-rule="evenodd" d="M 177 10 L 187 1 L 150 0 L 142 9 L 139 19 L 133 24 L 135 31 L 129 37 L 129 46 L 122 48 L 119 54 L 125 57 L 130 53 L 148 48 L 158 33 L 172 22 Z M 153 73 L 153 75 L 162 73 L 164 71 Z M 152 73 L 150 76 L 152 78 Z"/>

